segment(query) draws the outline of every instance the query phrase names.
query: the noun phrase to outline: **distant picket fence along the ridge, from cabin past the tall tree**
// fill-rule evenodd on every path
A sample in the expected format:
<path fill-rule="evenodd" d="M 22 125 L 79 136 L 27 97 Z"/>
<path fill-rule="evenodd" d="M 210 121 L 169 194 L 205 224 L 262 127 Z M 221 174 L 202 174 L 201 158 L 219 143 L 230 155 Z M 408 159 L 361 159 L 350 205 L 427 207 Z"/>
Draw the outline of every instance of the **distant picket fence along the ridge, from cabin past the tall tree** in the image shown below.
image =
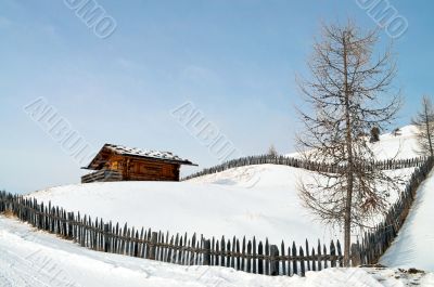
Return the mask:
<path fill-rule="evenodd" d="M 380 160 L 373 161 L 366 165 L 367 169 L 375 167 L 381 170 L 395 170 L 395 169 L 404 169 L 404 168 L 413 168 L 420 167 L 426 161 L 426 157 L 417 157 L 411 159 L 387 159 L 387 160 Z M 195 172 L 190 174 L 182 180 L 190 180 L 207 174 L 213 174 L 217 172 L 221 172 L 231 168 L 239 168 L 252 165 L 281 165 L 281 166 L 289 166 L 293 168 L 302 168 L 310 171 L 319 171 L 319 172 L 327 172 L 327 173 L 336 173 L 339 170 L 345 169 L 345 166 L 331 166 L 326 165 L 323 162 L 316 162 L 294 157 L 286 157 L 286 156 L 275 156 L 275 155 L 258 155 L 258 156 L 247 156 L 238 159 L 232 159 L 221 165 L 203 169 L 202 171 Z"/>

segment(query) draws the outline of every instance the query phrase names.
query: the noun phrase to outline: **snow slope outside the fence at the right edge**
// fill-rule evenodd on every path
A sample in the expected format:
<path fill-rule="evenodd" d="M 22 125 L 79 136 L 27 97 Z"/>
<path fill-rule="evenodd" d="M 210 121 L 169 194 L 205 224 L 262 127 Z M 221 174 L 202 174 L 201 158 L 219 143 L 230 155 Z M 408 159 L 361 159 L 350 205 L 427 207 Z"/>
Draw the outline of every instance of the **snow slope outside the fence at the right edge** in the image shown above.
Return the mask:
<path fill-rule="evenodd" d="M 434 171 L 418 190 L 398 237 L 381 263 L 434 272 Z"/>

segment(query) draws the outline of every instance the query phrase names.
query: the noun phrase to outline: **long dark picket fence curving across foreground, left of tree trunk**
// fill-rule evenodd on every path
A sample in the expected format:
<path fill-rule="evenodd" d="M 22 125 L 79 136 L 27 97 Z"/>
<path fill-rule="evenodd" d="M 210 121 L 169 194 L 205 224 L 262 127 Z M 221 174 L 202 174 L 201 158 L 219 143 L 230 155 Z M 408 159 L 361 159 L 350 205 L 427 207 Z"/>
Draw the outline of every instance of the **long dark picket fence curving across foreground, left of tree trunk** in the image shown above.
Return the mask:
<path fill-rule="evenodd" d="M 306 271 L 343 266 L 339 240 L 329 248 L 318 240 L 315 246 L 308 240 L 304 246 L 271 245 L 246 238 L 204 238 L 202 235 L 184 235 L 137 230 L 127 224 L 92 220 L 88 216 L 75 214 L 49 203 L 38 204 L 34 198 L 0 193 L 0 213 L 9 213 L 28 222 L 38 230 L 74 240 L 92 250 L 139 257 L 181 265 L 226 266 L 238 271 L 264 275 L 301 275 Z"/>

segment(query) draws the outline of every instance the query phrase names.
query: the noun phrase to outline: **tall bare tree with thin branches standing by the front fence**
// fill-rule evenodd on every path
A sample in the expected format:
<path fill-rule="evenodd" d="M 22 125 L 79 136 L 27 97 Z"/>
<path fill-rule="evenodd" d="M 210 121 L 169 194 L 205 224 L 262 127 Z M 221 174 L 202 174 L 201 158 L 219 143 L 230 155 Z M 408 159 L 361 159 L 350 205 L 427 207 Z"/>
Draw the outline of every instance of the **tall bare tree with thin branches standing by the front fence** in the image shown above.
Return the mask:
<path fill-rule="evenodd" d="M 326 223 L 344 230 L 344 263 L 349 265 L 352 227 L 365 226 L 387 209 L 394 181 L 371 165 L 370 130 L 390 125 L 400 107 L 393 91 L 396 65 L 391 49 L 374 60 L 378 30 L 361 31 L 353 23 L 323 25 L 308 63 L 310 80 L 297 80 L 308 112 L 298 108 L 304 131 L 297 134 L 307 159 L 336 167 L 301 180 L 299 196 Z M 369 166 L 369 168 L 367 168 Z"/>

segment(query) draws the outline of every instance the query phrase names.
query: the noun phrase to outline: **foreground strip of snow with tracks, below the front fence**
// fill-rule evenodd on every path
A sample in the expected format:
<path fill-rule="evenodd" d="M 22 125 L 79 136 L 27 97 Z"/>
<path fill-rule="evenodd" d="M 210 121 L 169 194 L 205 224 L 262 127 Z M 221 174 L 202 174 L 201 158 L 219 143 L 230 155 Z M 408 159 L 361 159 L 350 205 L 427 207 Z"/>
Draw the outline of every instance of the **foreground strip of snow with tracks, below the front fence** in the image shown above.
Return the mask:
<path fill-rule="evenodd" d="M 434 274 L 388 269 L 329 269 L 270 277 L 226 268 L 181 266 L 97 252 L 0 216 L 2 287 L 395 287 L 434 286 Z"/>

